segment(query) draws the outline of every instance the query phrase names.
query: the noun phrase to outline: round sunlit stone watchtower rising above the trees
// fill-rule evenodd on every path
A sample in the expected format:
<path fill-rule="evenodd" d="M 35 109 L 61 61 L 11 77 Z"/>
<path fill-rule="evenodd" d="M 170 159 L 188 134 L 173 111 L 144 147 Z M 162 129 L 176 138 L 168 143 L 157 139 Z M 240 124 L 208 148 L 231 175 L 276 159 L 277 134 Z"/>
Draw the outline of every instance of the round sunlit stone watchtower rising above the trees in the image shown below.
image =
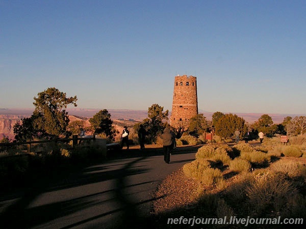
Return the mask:
<path fill-rule="evenodd" d="M 189 126 L 189 119 L 198 114 L 195 76 L 175 76 L 170 118 L 172 127 Z"/>

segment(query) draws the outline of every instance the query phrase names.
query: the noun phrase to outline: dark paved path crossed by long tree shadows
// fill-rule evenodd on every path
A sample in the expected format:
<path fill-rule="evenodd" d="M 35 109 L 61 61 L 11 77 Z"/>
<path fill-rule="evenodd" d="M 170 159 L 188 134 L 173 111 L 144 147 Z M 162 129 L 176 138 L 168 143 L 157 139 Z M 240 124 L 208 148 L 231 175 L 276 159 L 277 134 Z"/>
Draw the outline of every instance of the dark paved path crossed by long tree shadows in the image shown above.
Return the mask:
<path fill-rule="evenodd" d="M 159 183 L 194 160 L 199 147 L 177 148 L 170 164 L 161 149 L 123 150 L 60 182 L 2 199 L 6 226 L 0 228 L 149 228 L 145 223 Z"/>

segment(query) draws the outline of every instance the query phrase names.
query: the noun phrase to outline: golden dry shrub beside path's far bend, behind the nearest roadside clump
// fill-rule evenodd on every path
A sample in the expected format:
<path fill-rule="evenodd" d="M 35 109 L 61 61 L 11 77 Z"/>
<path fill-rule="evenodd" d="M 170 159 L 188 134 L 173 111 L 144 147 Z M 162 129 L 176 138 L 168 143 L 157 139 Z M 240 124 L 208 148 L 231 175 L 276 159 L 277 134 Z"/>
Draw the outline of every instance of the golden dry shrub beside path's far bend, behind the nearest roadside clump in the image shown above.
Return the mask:
<path fill-rule="evenodd" d="M 223 146 L 203 146 L 198 149 L 195 154 L 195 158 L 197 159 L 207 159 L 215 162 L 222 162 L 222 164 L 228 164 L 231 161 L 230 156 L 226 151 L 226 147 Z"/>

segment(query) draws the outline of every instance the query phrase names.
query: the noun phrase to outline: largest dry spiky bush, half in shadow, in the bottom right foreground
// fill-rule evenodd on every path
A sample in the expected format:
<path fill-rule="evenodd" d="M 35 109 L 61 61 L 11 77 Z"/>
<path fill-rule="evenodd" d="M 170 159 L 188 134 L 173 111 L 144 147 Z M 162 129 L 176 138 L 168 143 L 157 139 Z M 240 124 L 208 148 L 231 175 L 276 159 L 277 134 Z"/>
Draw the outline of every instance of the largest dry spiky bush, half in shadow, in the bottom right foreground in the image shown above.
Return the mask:
<path fill-rule="evenodd" d="M 244 173 L 222 193 L 226 205 L 240 217 L 304 217 L 306 198 L 284 174 L 257 169 Z M 226 209 L 226 208 L 225 208 Z"/>

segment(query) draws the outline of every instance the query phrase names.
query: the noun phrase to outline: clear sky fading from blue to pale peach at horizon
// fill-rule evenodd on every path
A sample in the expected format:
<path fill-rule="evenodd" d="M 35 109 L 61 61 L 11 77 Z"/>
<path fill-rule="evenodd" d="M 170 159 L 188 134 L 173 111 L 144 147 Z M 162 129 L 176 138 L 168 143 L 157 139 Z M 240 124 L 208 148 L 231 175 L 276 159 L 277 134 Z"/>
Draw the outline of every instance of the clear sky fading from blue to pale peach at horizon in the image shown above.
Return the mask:
<path fill-rule="evenodd" d="M 0 0 L 0 108 L 50 87 L 78 107 L 306 114 L 306 1 Z"/>

